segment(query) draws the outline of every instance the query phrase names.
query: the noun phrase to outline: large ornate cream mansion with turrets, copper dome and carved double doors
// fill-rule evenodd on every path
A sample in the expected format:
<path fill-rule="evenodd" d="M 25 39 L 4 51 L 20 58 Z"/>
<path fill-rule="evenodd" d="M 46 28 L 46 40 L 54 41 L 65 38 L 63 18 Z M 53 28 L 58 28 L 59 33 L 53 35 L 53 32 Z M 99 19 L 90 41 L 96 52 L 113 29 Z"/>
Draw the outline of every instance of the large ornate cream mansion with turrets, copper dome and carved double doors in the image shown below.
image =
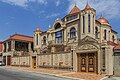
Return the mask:
<path fill-rule="evenodd" d="M 76 72 L 113 75 L 117 32 L 89 4 L 74 6 L 63 19 L 57 18 L 48 31 L 34 32 L 32 67 L 67 69 Z"/>

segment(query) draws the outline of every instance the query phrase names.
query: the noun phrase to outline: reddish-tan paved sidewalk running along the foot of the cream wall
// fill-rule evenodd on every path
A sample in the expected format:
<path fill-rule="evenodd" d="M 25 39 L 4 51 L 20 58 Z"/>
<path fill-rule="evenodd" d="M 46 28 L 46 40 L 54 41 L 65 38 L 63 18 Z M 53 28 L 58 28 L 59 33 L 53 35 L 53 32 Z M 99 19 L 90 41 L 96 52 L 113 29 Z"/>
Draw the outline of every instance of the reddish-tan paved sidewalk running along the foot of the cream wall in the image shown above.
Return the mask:
<path fill-rule="evenodd" d="M 100 80 L 102 78 L 97 74 L 79 73 L 79 72 L 71 72 L 71 71 L 57 70 L 57 69 L 46 69 L 46 68 L 33 69 L 29 67 L 14 67 L 14 66 L 5 66 L 5 68 L 13 68 L 17 70 L 37 72 L 37 73 L 54 75 L 59 77 L 73 78 L 77 80 Z"/>

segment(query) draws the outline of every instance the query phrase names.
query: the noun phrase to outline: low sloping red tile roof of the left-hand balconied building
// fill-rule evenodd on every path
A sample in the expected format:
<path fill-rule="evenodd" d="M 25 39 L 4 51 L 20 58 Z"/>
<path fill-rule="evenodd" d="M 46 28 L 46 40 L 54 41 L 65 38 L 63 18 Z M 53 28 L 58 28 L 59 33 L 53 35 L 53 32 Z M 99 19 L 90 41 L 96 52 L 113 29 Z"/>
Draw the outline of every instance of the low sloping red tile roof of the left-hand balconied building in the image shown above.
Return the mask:
<path fill-rule="evenodd" d="M 33 37 L 21 35 L 21 34 L 14 34 L 13 36 L 10 36 L 10 38 L 8 38 L 5 41 L 8 41 L 8 40 L 20 40 L 20 41 L 33 42 Z"/>

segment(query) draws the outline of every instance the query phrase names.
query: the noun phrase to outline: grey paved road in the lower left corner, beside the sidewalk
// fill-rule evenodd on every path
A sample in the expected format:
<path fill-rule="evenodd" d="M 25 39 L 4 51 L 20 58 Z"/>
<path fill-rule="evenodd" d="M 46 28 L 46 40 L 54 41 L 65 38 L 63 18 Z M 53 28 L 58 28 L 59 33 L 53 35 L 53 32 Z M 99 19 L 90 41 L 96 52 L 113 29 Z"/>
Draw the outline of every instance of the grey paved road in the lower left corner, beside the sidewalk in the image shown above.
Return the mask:
<path fill-rule="evenodd" d="M 0 68 L 0 80 L 73 80 L 40 73 Z"/>

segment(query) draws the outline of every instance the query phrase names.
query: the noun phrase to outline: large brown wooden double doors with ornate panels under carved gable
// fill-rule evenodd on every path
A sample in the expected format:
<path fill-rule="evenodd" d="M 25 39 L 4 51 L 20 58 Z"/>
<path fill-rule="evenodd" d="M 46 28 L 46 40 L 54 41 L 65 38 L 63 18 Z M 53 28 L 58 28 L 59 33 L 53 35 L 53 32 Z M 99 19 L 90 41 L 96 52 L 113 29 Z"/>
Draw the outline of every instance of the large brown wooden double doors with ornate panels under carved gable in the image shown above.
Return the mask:
<path fill-rule="evenodd" d="M 82 53 L 79 55 L 79 71 L 93 72 L 97 71 L 97 55 L 95 53 Z"/>

